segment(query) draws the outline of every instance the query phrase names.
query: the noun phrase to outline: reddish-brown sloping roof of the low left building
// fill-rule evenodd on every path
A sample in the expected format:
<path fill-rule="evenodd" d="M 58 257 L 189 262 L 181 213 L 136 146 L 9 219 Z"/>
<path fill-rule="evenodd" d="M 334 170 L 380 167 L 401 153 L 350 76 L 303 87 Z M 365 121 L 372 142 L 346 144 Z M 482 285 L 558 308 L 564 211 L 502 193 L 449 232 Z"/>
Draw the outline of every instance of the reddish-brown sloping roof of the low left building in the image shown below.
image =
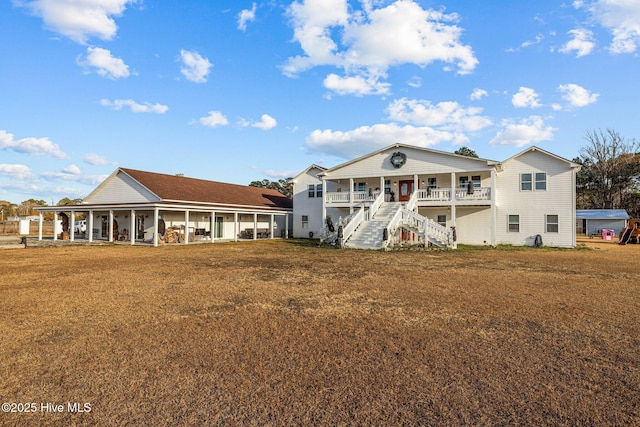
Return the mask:
<path fill-rule="evenodd" d="M 206 181 L 180 175 L 167 175 L 126 168 L 119 168 L 118 172 L 129 175 L 163 201 L 284 209 L 290 209 L 293 206 L 291 199 L 269 188 Z"/>

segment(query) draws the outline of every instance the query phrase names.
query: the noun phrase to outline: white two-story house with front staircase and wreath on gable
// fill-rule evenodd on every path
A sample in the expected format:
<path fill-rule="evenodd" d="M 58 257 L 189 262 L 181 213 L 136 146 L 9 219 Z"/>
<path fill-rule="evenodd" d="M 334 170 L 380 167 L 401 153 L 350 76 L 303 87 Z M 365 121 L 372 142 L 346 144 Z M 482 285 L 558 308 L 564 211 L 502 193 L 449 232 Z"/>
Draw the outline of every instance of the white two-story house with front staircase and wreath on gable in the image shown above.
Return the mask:
<path fill-rule="evenodd" d="M 579 167 L 537 147 L 500 162 L 395 144 L 298 174 L 293 235 L 372 249 L 412 243 L 573 247 Z"/>

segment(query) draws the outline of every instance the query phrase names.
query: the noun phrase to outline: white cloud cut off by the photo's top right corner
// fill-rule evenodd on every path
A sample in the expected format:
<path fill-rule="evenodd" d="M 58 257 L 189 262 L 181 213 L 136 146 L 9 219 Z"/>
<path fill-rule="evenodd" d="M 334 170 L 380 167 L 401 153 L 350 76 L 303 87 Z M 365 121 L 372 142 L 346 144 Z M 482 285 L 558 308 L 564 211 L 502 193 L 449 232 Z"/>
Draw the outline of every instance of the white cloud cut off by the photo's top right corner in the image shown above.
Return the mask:
<path fill-rule="evenodd" d="M 584 2 L 574 6 L 582 7 Z M 611 53 L 633 53 L 637 50 L 640 43 L 640 2 L 597 0 L 586 7 L 600 25 L 611 31 Z"/>

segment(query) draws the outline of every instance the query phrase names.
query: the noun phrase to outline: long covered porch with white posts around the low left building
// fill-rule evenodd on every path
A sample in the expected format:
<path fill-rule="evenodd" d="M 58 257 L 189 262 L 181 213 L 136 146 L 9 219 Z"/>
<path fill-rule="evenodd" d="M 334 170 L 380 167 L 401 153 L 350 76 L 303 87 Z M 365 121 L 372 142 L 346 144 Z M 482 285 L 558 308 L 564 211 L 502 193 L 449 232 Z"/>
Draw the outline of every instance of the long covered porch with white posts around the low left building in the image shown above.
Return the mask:
<path fill-rule="evenodd" d="M 38 240 L 43 240 L 44 213 L 54 217 L 53 240 L 94 240 L 146 245 L 214 243 L 288 238 L 286 210 L 143 204 L 75 205 L 39 209 Z M 84 218 L 84 232 L 74 224 Z"/>

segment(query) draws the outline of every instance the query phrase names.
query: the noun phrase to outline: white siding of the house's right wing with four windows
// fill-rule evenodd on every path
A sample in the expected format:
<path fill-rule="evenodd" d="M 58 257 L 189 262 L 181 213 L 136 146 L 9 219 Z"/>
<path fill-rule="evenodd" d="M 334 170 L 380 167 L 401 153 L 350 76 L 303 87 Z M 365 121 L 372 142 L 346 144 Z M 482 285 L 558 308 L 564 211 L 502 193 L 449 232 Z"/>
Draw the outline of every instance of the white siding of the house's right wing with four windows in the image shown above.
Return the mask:
<path fill-rule="evenodd" d="M 528 151 L 503 163 L 496 177 L 496 243 L 533 245 L 536 235 L 546 246 L 575 246 L 575 181 L 566 161 Z M 547 174 L 546 191 L 535 190 L 535 173 Z M 520 189 L 520 174 L 534 174 L 533 190 Z M 508 215 L 519 215 L 520 231 L 508 231 Z M 546 215 L 558 215 L 558 232 L 548 233 Z"/>

